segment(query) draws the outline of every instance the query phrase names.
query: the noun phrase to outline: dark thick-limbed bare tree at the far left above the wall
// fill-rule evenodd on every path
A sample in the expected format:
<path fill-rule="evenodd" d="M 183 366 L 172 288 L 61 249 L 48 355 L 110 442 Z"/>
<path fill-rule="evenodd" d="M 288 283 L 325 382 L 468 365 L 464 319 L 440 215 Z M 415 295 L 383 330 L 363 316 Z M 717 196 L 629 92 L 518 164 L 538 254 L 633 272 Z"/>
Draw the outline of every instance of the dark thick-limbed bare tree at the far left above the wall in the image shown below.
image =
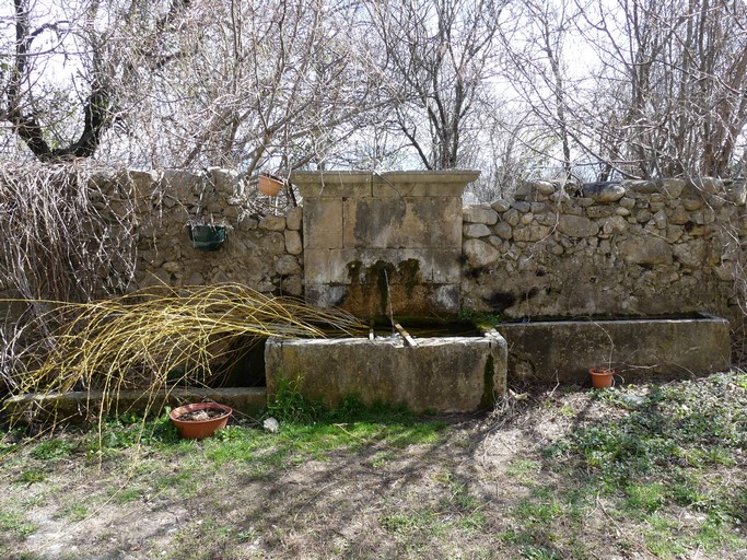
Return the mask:
<path fill-rule="evenodd" d="M 0 113 L 42 161 L 91 158 L 140 90 L 138 66 L 189 0 L 13 0 L 5 14 Z"/>

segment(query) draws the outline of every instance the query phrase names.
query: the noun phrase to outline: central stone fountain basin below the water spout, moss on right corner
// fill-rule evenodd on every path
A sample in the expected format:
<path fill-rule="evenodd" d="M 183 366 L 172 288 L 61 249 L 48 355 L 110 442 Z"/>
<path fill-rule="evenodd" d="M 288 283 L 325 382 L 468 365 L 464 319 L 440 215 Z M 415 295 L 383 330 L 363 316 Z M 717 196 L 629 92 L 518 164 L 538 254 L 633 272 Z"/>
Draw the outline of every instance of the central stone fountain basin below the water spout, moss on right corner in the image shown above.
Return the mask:
<path fill-rule="evenodd" d="M 285 340 L 265 347 L 267 394 L 283 377 L 302 394 L 338 406 L 348 395 L 365 405 L 405 405 L 415 411 L 471 412 L 489 408 L 506 387 L 507 347 L 501 335 L 417 338 Z"/>

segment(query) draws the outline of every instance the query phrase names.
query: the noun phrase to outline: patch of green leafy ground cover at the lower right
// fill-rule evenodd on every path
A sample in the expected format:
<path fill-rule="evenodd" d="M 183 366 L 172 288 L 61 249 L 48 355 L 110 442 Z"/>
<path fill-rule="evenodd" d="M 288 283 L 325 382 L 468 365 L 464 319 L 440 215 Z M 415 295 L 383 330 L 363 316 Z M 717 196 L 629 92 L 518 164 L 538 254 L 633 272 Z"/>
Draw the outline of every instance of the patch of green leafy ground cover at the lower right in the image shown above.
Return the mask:
<path fill-rule="evenodd" d="M 647 390 L 593 392 L 608 415 L 582 420 L 545 448 L 550 468 L 577 481 L 551 490 L 556 500 L 568 501 L 573 491 L 605 497 L 619 523 L 642 524 L 645 548 L 660 558 L 747 546 L 734 532 L 747 521 L 747 491 L 738 475 L 747 468 L 746 378 L 732 372 Z M 588 498 L 579 503 L 580 512 L 594 506 Z M 680 530 L 676 508 L 689 510 L 689 520 L 705 521 Z M 562 515 L 536 495 L 514 514 L 535 525 Z"/>

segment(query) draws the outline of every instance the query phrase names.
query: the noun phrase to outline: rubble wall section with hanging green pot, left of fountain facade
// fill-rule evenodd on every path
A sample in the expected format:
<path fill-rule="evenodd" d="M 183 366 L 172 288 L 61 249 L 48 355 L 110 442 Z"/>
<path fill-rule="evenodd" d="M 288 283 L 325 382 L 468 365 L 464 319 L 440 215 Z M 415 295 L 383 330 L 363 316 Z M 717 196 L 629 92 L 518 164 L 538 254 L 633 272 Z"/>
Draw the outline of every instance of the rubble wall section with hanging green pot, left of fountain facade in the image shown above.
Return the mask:
<path fill-rule="evenodd" d="M 139 201 L 139 287 L 232 281 L 261 292 L 303 293 L 300 208 L 257 215 L 238 174 L 214 167 L 203 174 L 128 172 L 119 180 L 131 182 Z M 219 250 L 192 247 L 187 225 L 199 219 L 229 226 Z"/>

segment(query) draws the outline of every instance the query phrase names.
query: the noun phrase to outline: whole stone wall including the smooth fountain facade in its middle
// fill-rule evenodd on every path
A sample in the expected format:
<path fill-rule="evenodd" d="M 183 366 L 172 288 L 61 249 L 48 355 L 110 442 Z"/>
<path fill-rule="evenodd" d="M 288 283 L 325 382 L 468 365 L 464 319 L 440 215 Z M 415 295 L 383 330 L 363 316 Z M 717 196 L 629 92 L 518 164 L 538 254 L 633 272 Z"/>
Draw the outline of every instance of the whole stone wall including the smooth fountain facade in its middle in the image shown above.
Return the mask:
<path fill-rule="evenodd" d="M 512 200 L 459 211 L 462 185 L 454 180 L 466 183 L 474 173 L 352 173 L 346 185 L 328 180 L 318 191 L 306 190 L 305 208 L 266 217 L 253 211 L 256 186 L 232 171 L 130 171 L 95 180 L 108 182 L 114 195 L 135 192 L 138 285 L 235 281 L 345 305 L 335 290 L 328 302 L 320 296 L 329 282 L 338 291 L 360 288 L 359 303 L 365 306 L 371 298 L 381 312 L 381 261 L 392 265 L 392 283 L 399 282 L 394 289 L 404 307 L 395 314 L 410 311 L 423 284 L 428 305 L 441 299 L 451 312 L 463 307 L 507 318 L 710 312 L 734 324 L 744 316 L 744 182 L 583 188 L 534 182 Z M 313 183 L 313 175 L 299 180 Z M 351 196 L 362 177 L 369 190 Z M 114 195 L 106 203 L 119 211 Z M 330 218 L 325 209 L 336 197 L 339 215 Z M 187 224 L 199 217 L 231 228 L 220 250 L 192 247 Z M 413 260 L 417 270 L 409 267 Z M 350 268 L 355 262 L 361 270 Z M 353 285 L 366 281 L 366 290 Z"/>

